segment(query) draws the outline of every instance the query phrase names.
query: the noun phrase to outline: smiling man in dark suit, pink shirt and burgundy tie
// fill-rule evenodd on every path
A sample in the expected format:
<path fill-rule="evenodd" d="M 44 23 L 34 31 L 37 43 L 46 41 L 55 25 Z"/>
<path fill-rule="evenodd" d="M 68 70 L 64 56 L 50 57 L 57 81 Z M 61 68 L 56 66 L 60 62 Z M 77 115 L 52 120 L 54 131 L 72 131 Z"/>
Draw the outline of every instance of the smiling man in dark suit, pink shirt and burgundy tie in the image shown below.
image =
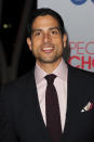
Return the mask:
<path fill-rule="evenodd" d="M 61 16 L 51 9 L 36 10 L 28 29 L 27 43 L 36 57 L 36 67 L 3 90 L 1 140 L 93 142 L 94 75 L 65 63 L 67 35 Z M 48 75 L 55 76 L 54 85 L 49 86 Z M 48 104 L 50 93 L 53 98 Z"/>

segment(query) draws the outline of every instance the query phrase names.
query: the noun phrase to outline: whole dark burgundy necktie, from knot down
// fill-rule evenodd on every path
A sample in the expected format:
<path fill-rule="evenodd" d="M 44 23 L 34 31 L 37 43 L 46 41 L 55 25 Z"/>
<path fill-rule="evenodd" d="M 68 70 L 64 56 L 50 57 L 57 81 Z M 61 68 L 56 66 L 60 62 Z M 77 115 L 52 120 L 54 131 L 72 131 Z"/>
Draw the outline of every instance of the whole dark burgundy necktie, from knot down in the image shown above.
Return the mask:
<path fill-rule="evenodd" d="M 57 92 L 53 85 L 55 75 L 51 74 L 45 76 L 48 87 L 45 91 L 45 115 L 46 128 L 49 130 L 52 142 L 61 142 L 62 125 Z"/>

